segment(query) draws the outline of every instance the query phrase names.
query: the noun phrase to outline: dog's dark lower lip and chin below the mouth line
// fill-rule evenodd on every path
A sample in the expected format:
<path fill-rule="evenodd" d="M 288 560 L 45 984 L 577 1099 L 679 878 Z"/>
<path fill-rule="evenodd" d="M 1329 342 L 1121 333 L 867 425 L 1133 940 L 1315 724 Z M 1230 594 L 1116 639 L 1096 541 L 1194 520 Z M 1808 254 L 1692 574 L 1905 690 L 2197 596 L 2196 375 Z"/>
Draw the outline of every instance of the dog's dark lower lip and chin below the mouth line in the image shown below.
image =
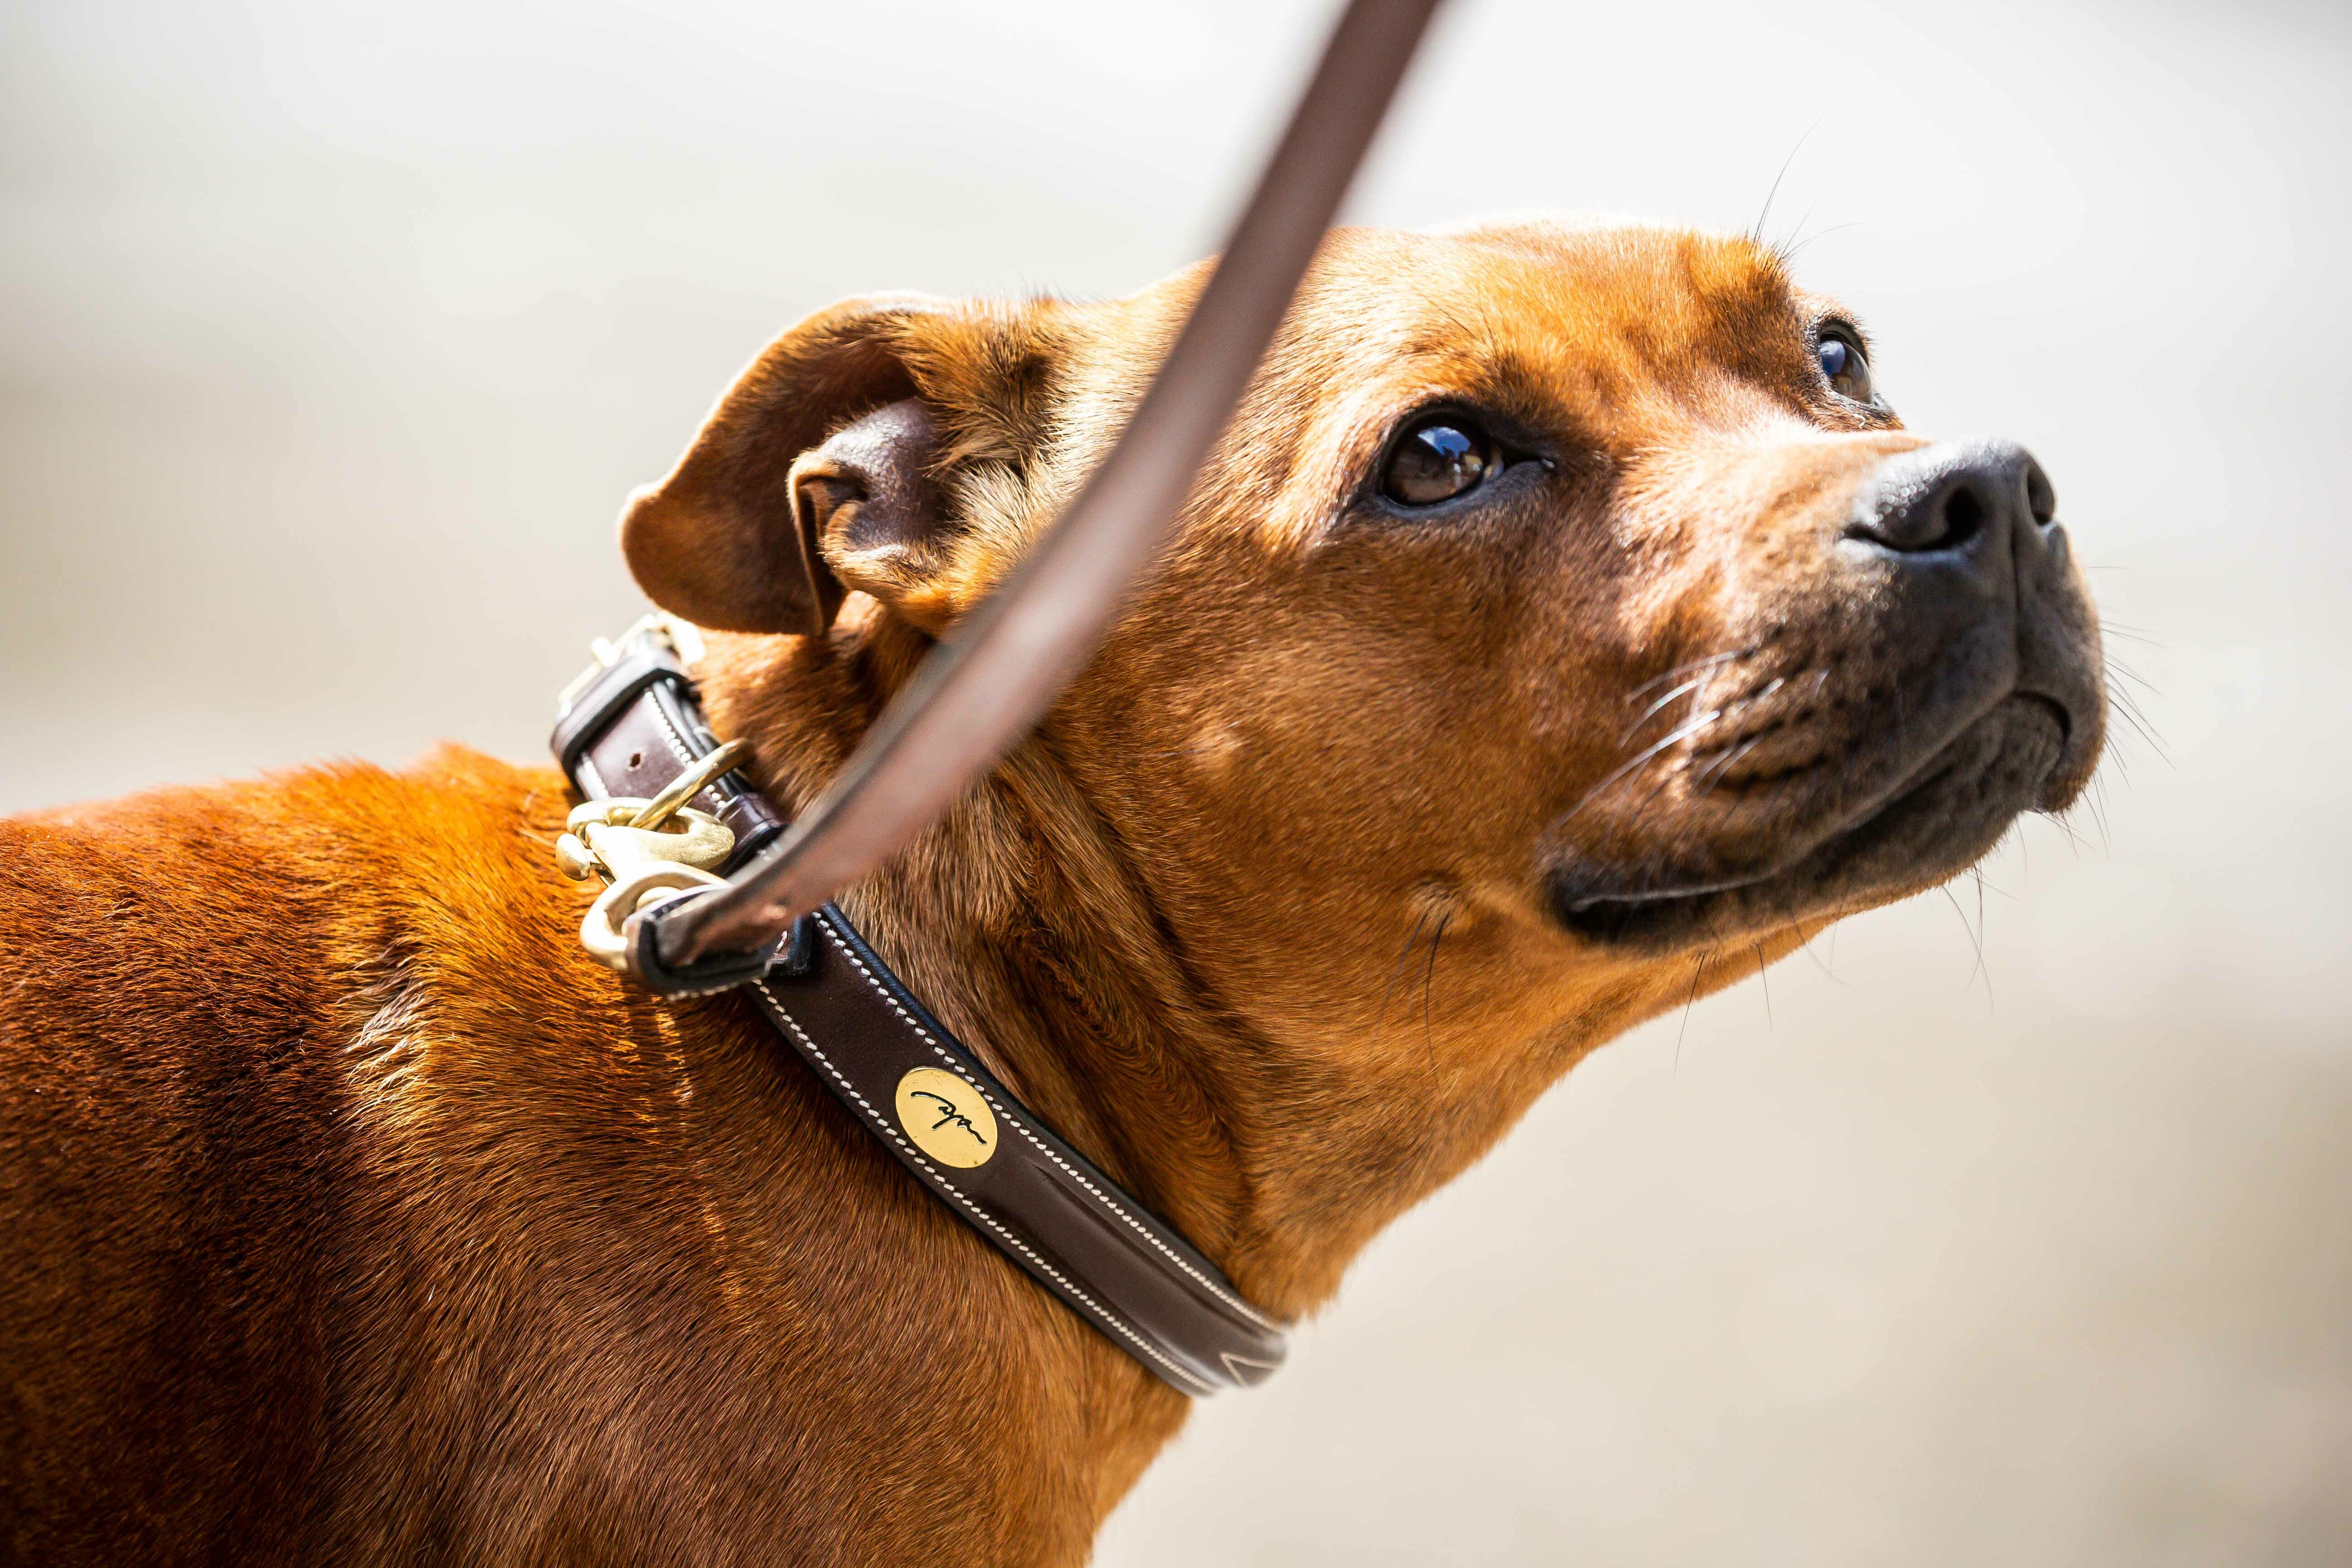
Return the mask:
<path fill-rule="evenodd" d="M 2065 743 L 2056 703 L 2011 696 L 1828 837 L 1792 825 L 1788 837 L 1811 849 L 1785 865 L 1628 889 L 1588 863 L 1562 865 L 1548 877 L 1552 917 L 1595 945 L 1672 954 L 1891 903 L 1969 870 L 2044 804 Z"/>

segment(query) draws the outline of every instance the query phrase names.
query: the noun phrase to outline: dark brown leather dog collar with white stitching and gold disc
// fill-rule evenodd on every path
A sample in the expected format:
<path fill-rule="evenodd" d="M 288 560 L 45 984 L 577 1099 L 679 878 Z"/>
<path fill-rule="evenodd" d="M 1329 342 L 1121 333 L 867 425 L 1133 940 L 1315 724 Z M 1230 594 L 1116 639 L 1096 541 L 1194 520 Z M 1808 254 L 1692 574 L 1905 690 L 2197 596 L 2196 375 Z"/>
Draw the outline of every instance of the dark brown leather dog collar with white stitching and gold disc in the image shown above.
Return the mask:
<path fill-rule="evenodd" d="M 659 625 L 640 625 L 574 689 L 553 736 L 586 799 L 659 795 L 715 748 L 694 682 Z M 736 832 L 731 865 L 786 827 L 741 773 L 722 776 L 694 804 Z M 1282 1366 L 1282 1326 L 1016 1100 L 835 905 L 807 914 L 748 992 L 816 1079 L 955 1218 L 1171 1387 L 1214 1394 Z"/>

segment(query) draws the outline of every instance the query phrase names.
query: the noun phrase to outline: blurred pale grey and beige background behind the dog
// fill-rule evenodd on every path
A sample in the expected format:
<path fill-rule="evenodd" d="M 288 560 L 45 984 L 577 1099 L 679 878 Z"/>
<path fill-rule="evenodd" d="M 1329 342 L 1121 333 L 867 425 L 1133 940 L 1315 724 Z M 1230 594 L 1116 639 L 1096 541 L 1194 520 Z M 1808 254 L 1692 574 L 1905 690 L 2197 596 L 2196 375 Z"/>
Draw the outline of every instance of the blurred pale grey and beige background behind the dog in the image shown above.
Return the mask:
<path fill-rule="evenodd" d="M 873 287 L 1216 244 L 1324 5 L 0 12 L 0 806 L 541 752 Z M 2056 475 L 2161 752 L 1585 1065 L 1101 1561 L 2343 1563 L 2352 9 L 1461 5 L 1350 202 L 1771 233 Z M 2169 759 L 2166 759 L 2169 755 Z M 1828 973 L 1835 969 L 1835 978 Z"/>

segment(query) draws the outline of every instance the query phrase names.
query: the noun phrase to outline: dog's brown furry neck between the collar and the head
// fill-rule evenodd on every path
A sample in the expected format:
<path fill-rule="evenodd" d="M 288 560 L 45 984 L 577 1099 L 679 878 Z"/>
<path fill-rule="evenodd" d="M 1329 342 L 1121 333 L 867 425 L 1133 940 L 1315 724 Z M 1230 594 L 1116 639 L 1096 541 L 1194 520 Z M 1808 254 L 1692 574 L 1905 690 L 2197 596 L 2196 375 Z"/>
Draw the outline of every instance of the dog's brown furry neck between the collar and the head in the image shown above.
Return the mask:
<path fill-rule="evenodd" d="M 927 651 L 854 599 L 830 639 L 715 635 L 696 677 L 717 733 L 750 741 L 757 778 L 800 811 Z M 1416 971 L 1395 1006 L 1406 1053 L 1350 1048 L 1378 1023 L 1374 999 L 1322 1030 L 1265 1030 L 1195 973 L 1051 724 L 842 903 L 990 1070 L 1284 1316 L 1639 1011 L 1628 997 L 1536 1034 L 1522 1018 L 1510 1051 L 1465 1065 L 1444 1058 L 1475 1020 L 1430 1018 Z"/>

